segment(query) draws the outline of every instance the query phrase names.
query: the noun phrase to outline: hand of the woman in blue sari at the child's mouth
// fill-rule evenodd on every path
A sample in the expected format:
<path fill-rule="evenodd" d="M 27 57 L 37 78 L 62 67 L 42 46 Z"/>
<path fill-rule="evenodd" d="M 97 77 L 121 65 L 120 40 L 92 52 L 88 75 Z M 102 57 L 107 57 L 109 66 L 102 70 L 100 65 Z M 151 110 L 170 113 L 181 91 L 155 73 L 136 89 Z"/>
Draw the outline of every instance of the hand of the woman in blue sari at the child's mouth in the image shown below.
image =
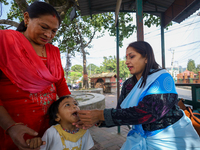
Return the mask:
<path fill-rule="evenodd" d="M 99 121 L 104 121 L 103 110 L 79 110 L 80 121 L 78 125 L 92 127 Z"/>

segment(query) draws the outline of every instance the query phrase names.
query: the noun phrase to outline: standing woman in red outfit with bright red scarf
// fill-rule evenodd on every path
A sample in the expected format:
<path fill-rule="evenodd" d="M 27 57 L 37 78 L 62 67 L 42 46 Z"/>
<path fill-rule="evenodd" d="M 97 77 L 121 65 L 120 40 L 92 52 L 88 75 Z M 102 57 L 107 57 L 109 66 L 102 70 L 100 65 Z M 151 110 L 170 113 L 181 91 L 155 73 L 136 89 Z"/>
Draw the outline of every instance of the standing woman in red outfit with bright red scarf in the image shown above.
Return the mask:
<path fill-rule="evenodd" d="M 58 47 L 49 44 L 61 19 L 48 3 L 35 1 L 17 30 L 0 30 L 0 149 L 29 150 L 25 140 L 49 128 L 46 112 L 71 94 Z"/>

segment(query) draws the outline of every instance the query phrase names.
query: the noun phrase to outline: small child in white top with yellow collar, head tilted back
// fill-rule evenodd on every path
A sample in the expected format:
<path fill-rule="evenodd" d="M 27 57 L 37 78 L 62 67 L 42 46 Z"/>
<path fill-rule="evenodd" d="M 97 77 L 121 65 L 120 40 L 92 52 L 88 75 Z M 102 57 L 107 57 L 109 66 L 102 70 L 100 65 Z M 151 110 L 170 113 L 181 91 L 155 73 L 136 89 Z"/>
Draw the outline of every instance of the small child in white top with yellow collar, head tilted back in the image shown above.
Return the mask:
<path fill-rule="evenodd" d="M 40 150 L 89 150 L 94 142 L 89 130 L 79 129 L 72 123 L 79 121 L 77 115 L 77 101 L 70 96 L 63 96 L 52 103 L 49 107 L 49 124 L 51 127 L 46 130 L 42 139 L 33 138 L 26 142 L 30 148 Z M 42 142 L 44 141 L 44 142 Z"/>

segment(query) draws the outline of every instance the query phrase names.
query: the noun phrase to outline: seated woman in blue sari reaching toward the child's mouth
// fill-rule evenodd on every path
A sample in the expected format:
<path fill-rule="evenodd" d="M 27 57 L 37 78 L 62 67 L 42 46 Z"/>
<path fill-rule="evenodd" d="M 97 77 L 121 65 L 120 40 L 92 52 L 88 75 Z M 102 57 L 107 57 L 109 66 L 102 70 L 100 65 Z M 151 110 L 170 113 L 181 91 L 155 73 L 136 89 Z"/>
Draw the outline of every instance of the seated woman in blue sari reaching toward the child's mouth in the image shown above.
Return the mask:
<path fill-rule="evenodd" d="M 197 150 L 200 138 L 178 107 L 172 76 L 161 69 L 145 41 L 130 43 L 126 65 L 133 75 L 122 87 L 117 108 L 80 110 L 77 127 L 131 125 L 121 150 Z"/>

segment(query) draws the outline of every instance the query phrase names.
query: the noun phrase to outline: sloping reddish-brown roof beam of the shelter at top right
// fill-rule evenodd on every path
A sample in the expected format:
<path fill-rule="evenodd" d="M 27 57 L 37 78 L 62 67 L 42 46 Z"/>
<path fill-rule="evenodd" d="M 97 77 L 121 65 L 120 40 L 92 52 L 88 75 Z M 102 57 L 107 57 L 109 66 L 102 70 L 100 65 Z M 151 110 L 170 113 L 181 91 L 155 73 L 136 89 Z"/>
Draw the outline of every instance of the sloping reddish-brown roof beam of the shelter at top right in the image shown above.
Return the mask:
<path fill-rule="evenodd" d="M 164 27 L 166 27 L 172 20 L 179 16 L 195 1 L 196 0 L 175 0 L 173 4 L 165 11 Z"/>

